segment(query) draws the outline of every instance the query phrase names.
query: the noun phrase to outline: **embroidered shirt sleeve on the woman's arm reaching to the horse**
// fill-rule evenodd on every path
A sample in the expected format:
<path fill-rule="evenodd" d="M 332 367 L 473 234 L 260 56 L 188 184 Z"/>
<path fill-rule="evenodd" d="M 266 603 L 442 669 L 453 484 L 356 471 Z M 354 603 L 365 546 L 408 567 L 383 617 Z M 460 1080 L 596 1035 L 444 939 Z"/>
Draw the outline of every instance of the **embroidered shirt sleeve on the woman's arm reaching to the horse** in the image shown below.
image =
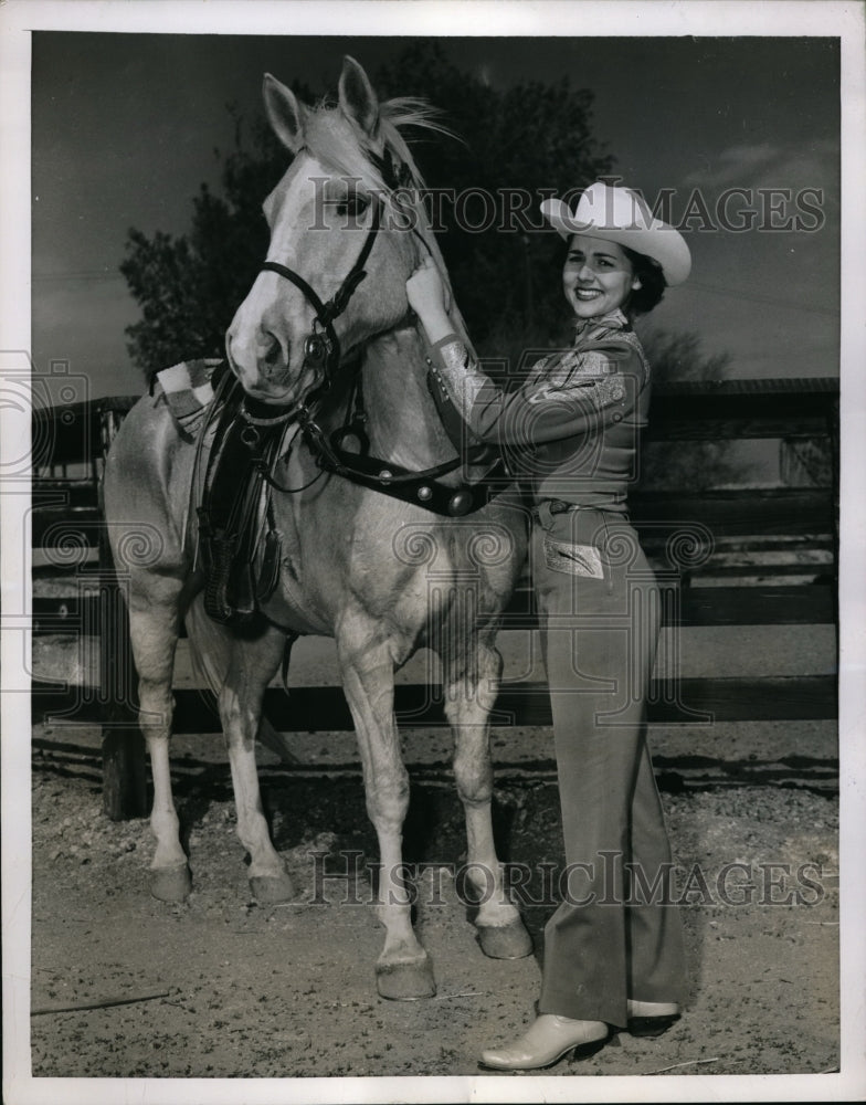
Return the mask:
<path fill-rule="evenodd" d="M 480 371 L 457 335 L 433 348 L 434 387 L 447 394 L 476 436 L 499 445 L 603 432 L 635 410 L 644 385 L 640 355 L 623 339 L 610 338 L 578 352 L 573 371 L 562 382 L 536 378 L 511 394 Z"/>

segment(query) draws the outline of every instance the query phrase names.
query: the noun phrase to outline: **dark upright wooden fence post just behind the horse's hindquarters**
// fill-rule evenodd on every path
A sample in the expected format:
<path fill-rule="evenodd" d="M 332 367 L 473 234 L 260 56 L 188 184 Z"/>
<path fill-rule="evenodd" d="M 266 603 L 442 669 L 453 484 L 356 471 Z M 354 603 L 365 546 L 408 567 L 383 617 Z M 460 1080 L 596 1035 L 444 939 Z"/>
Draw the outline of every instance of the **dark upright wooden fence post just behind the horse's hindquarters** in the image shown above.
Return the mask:
<path fill-rule="evenodd" d="M 116 410 L 99 408 L 103 459 L 120 424 Z M 102 490 L 99 508 L 102 509 Z M 99 698 L 103 704 L 103 810 L 112 821 L 147 815 L 145 741 L 134 707 L 135 666 L 129 617 L 108 543 L 99 532 Z"/>

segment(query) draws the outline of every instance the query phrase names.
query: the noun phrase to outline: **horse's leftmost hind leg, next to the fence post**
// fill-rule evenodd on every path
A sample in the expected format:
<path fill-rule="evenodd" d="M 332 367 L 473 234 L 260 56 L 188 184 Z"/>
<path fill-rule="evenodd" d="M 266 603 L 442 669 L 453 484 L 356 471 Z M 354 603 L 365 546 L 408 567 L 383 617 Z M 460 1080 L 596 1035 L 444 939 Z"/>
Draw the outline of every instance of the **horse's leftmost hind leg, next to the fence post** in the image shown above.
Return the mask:
<path fill-rule="evenodd" d="M 178 643 L 181 583 L 154 577 L 129 598 L 129 636 L 138 672 L 139 725 L 150 755 L 154 804 L 150 828 L 156 851 L 150 864 L 150 893 L 163 902 L 182 902 L 190 892 L 187 854 L 180 843 L 171 793 L 169 743 L 175 701 L 171 681 Z"/>

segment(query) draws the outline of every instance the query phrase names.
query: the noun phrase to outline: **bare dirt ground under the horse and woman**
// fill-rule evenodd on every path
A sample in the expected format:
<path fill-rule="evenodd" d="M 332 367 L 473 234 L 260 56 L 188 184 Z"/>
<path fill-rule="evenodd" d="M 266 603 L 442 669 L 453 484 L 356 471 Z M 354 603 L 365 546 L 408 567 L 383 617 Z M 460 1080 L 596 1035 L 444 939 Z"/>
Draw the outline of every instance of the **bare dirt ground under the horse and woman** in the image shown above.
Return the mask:
<path fill-rule="evenodd" d="M 430 1000 L 389 1002 L 374 985 L 383 930 L 368 904 L 363 859 L 374 860 L 377 850 L 359 771 L 351 765 L 330 772 L 263 766 L 274 839 L 296 887 L 292 903 L 263 906 L 247 887 L 219 738 L 209 745 L 215 751 L 203 747 L 179 749 L 176 770 L 193 893 L 183 905 L 166 905 L 148 894 L 147 822 L 110 822 L 102 812 L 94 735 L 34 732 L 34 1077 L 485 1073 L 477 1065 L 480 1050 L 506 1042 L 532 1017 L 551 906 L 525 904 L 534 956 L 484 957 L 460 890 L 442 871 L 465 855 L 462 809 L 447 770 L 416 776 L 405 839 L 406 860 L 422 869 L 418 926 L 439 991 Z M 691 979 L 685 1015 L 661 1039 L 622 1033 L 594 1057 L 546 1073 L 837 1070 L 832 782 L 725 785 L 710 772 L 701 783 L 675 766 L 676 758 L 659 779 L 685 901 Z M 506 774 L 496 792 L 496 830 L 504 859 L 531 871 L 561 863 L 549 774 Z M 345 874 L 346 851 L 361 853 L 358 877 L 324 877 Z M 315 853 L 329 853 L 324 869 Z M 725 882 L 732 863 L 742 866 L 728 869 Z M 535 884 L 524 896 L 530 895 L 542 896 Z M 129 1000 L 81 1008 L 106 999 Z M 78 1008 L 62 1011 L 66 1007 Z M 409 1092 L 401 1099 L 411 1099 Z"/>

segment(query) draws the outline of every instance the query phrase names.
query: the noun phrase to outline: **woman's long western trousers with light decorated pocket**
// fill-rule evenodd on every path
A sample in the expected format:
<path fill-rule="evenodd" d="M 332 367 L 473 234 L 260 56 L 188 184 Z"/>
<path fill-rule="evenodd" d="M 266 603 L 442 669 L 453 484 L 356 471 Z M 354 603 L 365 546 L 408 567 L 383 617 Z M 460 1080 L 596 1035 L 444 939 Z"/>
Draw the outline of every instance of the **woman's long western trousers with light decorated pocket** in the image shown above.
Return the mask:
<path fill-rule="evenodd" d="M 542 505 L 532 557 L 568 873 L 545 929 L 538 1009 L 624 1028 L 627 998 L 685 996 L 682 918 L 646 744 L 658 587 L 625 515 L 551 515 Z"/>

